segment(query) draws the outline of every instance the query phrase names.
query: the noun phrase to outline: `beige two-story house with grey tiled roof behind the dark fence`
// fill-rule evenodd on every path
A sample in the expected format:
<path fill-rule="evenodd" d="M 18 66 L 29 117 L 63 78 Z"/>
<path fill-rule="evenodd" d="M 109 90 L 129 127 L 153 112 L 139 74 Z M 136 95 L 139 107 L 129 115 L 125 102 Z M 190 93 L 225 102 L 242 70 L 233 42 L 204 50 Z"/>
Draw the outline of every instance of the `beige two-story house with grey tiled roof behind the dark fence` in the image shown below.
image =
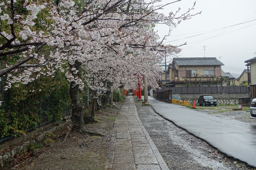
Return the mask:
<path fill-rule="evenodd" d="M 221 66 L 216 57 L 174 57 L 168 66 L 170 82 L 175 87 L 221 86 Z M 218 81 L 216 81 L 216 78 Z"/>

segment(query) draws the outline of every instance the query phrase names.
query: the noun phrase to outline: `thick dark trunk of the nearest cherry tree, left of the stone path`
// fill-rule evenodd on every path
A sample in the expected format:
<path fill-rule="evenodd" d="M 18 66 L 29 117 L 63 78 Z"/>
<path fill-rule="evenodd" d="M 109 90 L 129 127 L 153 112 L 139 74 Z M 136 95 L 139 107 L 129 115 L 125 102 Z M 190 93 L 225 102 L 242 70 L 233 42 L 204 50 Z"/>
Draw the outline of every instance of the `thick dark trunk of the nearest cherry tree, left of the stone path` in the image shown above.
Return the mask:
<path fill-rule="evenodd" d="M 76 62 L 75 65 L 70 65 L 70 68 L 76 68 L 78 70 L 79 63 Z M 74 74 L 72 71 L 73 76 L 80 76 L 79 72 Z M 72 103 L 72 124 L 73 124 L 73 131 L 83 132 L 84 131 L 84 118 L 82 113 L 82 105 L 80 103 L 80 90 L 79 84 L 75 85 L 75 82 L 72 81 L 70 83 L 69 95 Z"/>

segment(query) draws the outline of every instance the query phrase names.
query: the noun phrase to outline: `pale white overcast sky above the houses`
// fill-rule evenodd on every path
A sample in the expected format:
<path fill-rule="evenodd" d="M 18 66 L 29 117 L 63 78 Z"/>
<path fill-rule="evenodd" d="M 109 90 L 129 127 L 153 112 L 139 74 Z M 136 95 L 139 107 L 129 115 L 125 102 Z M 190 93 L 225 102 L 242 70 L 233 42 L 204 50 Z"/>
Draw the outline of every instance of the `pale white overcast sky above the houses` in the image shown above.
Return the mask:
<path fill-rule="evenodd" d="M 163 0 L 162 3 L 169 2 L 172 0 Z M 181 0 L 159 12 L 168 15 L 180 7 L 181 14 L 192 8 L 194 2 Z M 187 42 L 181 47 L 183 50 L 179 57 L 204 57 L 205 52 L 205 57 L 216 57 L 224 63 L 223 71 L 241 74 L 247 69 L 244 61 L 253 58 L 256 52 L 256 0 L 197 0 L 190 14 L 200 11 L 201 14 L 173 28 L 171 36 L 164 42 L 171 45 Z M 158 25 L 155 30 L 163 38 L 169 28 Z M 194 37 L 187 38 L 189 36 Z"/>

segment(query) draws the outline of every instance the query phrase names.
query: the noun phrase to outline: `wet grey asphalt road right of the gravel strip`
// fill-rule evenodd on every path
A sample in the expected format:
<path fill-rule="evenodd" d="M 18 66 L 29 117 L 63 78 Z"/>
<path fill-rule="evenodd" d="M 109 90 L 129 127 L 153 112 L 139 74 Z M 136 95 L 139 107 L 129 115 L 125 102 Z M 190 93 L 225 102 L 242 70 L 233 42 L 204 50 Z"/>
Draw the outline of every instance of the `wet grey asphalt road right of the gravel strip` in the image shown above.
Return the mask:
<path fill-rule="evenodd" d="M 256 126 L 158 101 L 151 96 L 149 102 L 165 119 L 206 140 L 222 153 L 256 167 Z"/>

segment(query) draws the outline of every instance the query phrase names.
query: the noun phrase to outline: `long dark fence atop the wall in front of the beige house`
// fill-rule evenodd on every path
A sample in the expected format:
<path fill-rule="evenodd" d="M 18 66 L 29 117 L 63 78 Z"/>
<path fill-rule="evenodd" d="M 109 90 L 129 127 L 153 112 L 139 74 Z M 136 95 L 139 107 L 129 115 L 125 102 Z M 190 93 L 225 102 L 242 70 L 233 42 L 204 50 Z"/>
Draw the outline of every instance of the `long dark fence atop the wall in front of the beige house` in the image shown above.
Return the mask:
<path fill-rule="evenodd" d="M 249 87 L 162 87 L 157 93 L 172 90 L 173 94 L 249 93 Z"/>

